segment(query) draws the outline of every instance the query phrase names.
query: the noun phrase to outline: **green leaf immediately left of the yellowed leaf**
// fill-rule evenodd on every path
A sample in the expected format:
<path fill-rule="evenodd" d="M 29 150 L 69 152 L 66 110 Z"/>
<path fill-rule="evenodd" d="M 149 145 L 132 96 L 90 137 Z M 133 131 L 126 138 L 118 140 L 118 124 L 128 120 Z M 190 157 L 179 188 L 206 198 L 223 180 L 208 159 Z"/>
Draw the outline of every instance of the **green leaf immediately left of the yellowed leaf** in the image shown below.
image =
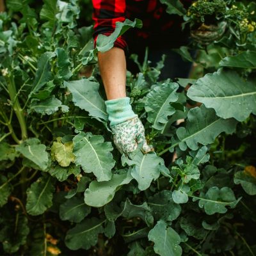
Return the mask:
<path fill-rule="evenodd" d="M 46 147 L 37 138 L 25 140 L 16 147 L 16 150 L 35 163 L 39 170 L 45 170 L 47 168 L 48 154 Z"/>

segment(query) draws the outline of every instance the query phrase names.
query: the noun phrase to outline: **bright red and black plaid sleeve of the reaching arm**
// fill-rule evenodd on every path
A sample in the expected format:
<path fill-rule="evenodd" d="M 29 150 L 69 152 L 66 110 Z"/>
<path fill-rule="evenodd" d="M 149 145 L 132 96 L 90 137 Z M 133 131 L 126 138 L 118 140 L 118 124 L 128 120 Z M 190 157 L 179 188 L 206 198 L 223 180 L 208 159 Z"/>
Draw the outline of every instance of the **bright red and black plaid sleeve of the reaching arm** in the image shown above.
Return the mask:
<path fill-rule="evenodd" d="M 97 40 L 99 34 L 109 36 L 115 30 L 116 22 L 124 22 L 126 4 L 124 0 L 92 0 L 93 3 L 93 20 L 94 42 Z M 127 51 L 127 43 L 124 37 L 119 36 L 114 44 Z"/>

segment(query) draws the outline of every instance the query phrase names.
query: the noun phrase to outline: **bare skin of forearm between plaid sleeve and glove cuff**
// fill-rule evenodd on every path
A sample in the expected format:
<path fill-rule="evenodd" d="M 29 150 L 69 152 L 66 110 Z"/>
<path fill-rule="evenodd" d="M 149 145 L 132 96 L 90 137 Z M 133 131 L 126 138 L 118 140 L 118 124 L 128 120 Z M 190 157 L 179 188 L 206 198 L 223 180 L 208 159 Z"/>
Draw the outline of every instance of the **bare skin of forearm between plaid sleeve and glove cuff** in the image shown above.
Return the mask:
<path fill-rule="evenodd" d="M 108 52 L 99 52 L 100 75 L 108 100 L 126 97 L 126 61 L 124 50 L 113 47 Z"/>

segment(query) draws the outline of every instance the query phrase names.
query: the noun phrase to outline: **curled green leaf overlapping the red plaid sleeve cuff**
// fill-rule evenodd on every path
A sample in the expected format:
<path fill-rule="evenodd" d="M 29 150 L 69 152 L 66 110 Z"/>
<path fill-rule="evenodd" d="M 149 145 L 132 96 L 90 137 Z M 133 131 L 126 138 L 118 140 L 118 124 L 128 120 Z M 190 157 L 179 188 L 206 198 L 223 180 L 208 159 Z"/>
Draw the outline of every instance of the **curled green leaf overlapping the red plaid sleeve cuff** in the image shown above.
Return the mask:
<path fill-rule="evenodd" d="M 121 36 L 129 28 L 142 28 L 142 22 L 139 19 L 134 19 L 132 22 L 129 19 L 125 19 L 124 22 L 116 22 L 115 31 L 110 36 L 100 34 L 97 37 L 96 48 L 99 52 L 109 51 L 115 43 L 118 36 Z"/>

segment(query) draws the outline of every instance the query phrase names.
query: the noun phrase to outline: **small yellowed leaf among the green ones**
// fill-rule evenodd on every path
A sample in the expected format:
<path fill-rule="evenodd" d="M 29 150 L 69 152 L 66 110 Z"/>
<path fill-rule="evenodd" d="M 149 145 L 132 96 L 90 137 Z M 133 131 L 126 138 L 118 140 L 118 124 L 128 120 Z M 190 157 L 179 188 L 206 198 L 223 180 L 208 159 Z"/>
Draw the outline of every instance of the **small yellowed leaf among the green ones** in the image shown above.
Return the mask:
<path fill-rule="evenodd" d="M 60 166 L 67 167 L 70 163 L 74 163 L 75 155 L 73 154 L 74 144 L 72 141 L 62 143 L 61 137 L 58 137 L 52 143 L 51 156 L 60 164 Z"/>

